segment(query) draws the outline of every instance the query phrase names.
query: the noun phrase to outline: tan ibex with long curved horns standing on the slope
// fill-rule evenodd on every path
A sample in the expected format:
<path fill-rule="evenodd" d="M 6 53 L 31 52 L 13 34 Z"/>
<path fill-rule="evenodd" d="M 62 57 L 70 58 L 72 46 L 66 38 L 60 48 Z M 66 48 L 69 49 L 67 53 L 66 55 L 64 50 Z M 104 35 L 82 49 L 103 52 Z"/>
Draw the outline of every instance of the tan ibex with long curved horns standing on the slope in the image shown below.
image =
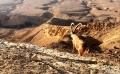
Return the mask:
<path fill-rule="evenodd" d="M 86 43 L 80 39 L 76 34 L 75 34 L 75 30 L 76 28 L 80 25 L 78 24 L 77 26 L 75 26 L 74 30 L 72 30 L 72 26 L 74 25 L 74 23 L 71 23 L 70 25 L 70 30 L 71 30 L 71 38 L 72 38 L 72 44 L 73 44 L 73 50 L 72 52 L 74 52 L 74 50 L 76 49 L 78 51 L 78 54 L 80 56 L 82 56 L 86 50 L 87 50 L 87 45 Z"/>

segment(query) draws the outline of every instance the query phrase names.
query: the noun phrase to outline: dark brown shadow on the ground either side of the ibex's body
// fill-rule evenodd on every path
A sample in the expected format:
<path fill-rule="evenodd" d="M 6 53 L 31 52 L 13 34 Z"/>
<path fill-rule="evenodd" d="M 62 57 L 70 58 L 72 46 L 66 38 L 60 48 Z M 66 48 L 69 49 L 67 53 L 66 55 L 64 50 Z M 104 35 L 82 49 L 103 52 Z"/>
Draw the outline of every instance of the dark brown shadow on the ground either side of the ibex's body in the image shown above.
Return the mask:
<path fill-rule="evenodd" d="M 70 38 L 69 36 L 67 37 Z M 102 53 L 102 50 L 99 47 L 99 45 L 102 42 L 100 42 L 99 40 L 90 36 L 79 36 L 79 38 L 82 39 L 87 44 L 90 53 Z M 47 45 L 46 47 L 51 49 L 57 49 L 58 51 L 62 51 L 62 52 L 72 53 L 72 48 L 73 48 L 72 46 L 73 46 L 72 39 L 69 39 L 68 41 L 62 39 L 59 42 L 53 42 Z M 77 50 L 75 51 L 75 53 L 77 54 Z"/>

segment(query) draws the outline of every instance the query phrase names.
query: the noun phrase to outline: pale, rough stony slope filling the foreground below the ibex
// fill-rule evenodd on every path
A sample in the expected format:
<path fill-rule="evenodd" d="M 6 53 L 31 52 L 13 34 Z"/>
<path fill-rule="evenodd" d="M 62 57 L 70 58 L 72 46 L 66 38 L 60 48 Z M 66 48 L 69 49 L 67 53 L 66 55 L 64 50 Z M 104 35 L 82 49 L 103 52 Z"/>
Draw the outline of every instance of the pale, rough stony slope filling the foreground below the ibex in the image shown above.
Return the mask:
<path fill-rule="evenodd" d="M 0 40 L 0 73 L 82 73 L 105 74 L 120 72 L 120 63 L 58 52 L 27 43 Z"/>

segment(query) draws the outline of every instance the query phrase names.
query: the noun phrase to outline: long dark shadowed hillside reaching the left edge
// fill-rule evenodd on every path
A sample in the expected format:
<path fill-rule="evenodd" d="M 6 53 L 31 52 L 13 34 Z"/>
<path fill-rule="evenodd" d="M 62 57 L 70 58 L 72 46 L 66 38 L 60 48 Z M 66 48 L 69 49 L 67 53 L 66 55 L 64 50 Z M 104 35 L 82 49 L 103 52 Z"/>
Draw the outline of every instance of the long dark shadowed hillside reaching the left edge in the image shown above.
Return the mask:
<path fill-rule="evenodd" d="M 24 15 L 11 15 L 7 16 L 0 14 L 0 27 L 3 28 L 27 28 L 39 26 L 47 22 L 53 15 L 50 12 L 45 12 L 40 16 L 24 16 Z"/>

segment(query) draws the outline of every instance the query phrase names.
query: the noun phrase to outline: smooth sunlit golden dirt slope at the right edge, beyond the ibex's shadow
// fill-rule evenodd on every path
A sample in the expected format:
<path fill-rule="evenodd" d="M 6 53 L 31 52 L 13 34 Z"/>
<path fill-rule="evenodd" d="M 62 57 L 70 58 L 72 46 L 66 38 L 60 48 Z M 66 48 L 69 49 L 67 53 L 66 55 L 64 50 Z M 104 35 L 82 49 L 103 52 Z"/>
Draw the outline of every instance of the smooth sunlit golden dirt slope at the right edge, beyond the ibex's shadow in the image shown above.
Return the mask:
<path fill-rule="evenodd" d="M 101 39 L 103 39 L 101 46 L 105 48 L 120 48 L 120 26 L 117 26 L 103 33 Z"/>

